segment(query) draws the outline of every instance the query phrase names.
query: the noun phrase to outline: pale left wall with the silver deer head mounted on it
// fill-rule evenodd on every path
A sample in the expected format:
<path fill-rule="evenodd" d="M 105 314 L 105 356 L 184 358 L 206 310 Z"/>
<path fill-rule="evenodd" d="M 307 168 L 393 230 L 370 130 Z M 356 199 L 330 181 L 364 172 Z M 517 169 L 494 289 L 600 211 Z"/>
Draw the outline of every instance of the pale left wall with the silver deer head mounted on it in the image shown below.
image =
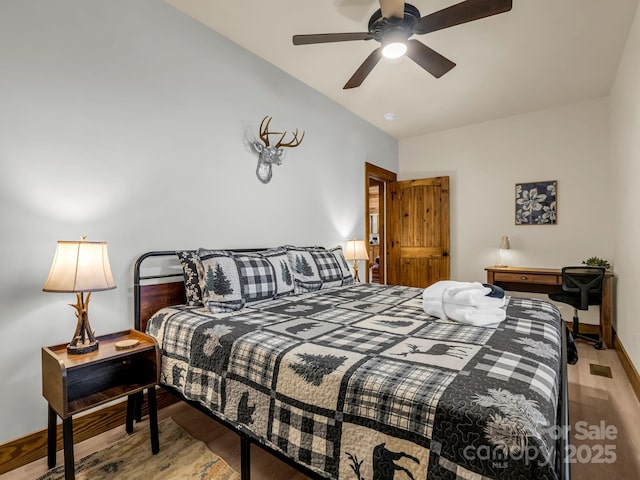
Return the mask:
<path fill-rule="evenodd" d="M 0 443 L 46 425 L 40 347 L 75 328 L 41 291 L 57 240 L 109 242 L 104 334 L 133 326 L 143 252 L 361 237 L 364 162 L 398 169 L 395 139 L 160 0 L 3 0 L 0 59 Z M 306 136 L 263 185 L 267 114 Z"/>

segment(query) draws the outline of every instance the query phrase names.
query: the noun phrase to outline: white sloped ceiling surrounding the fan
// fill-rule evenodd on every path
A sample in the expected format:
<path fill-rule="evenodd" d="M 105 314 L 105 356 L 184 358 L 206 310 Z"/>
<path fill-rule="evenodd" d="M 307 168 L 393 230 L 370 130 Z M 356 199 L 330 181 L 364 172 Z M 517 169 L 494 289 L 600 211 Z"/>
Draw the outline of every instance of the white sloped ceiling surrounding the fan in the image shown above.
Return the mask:
<path fill-rule="evenodd" d="M 638 6 L 514 0 L 510 12 L 413 37 L 457 64 L 440 79 L 406 57 L 383 59 L 343 90 L 378 43 L 293 46 L 291 37 L 365 32 L 377 0 L 166 1 L 396 138 L 608 95 Z M 411 3 L 424 16 L 457 0 Z"/>

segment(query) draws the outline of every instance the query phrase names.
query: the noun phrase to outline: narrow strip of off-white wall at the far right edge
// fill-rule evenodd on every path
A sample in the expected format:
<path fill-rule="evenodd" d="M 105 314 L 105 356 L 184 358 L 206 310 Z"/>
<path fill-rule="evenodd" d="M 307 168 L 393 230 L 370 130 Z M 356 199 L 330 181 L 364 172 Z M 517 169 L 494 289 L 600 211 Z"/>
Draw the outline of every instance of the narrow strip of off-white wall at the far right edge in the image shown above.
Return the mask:
<path fill-rule="evenodd" d="M 640 370 L 640 10 L 611 93 L 611 156 L 615 171 L 616 332 Z"/>

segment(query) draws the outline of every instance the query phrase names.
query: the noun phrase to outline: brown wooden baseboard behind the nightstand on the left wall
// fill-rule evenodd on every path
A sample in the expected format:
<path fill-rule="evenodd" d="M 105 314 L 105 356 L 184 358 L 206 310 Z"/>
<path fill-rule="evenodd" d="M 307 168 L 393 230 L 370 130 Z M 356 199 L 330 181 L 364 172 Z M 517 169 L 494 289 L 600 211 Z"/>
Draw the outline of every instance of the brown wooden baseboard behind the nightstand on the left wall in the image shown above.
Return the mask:
<path fill-rule="evenodd" d="M 175 403 L 177 398 L 164 389 L 157 390 L 158 409 Z M 142 408 L 142 414 L 146 415 L 146 402 Z M 74 443 L 104 433 L 112 428 L 124 425 L 127 415 L 127 402 L 109 405 L 98 410 L 93 410 L 85 415 L 73 418 Z M 43 413 L 46 418 L 46 412 Z M 62 449 L 62 424 L 58 424 L 57 450 Z M 0 475 L 16 468 L 23 467 L 47 455 L 47 429 L 25 435 L 0 445 Z"/>

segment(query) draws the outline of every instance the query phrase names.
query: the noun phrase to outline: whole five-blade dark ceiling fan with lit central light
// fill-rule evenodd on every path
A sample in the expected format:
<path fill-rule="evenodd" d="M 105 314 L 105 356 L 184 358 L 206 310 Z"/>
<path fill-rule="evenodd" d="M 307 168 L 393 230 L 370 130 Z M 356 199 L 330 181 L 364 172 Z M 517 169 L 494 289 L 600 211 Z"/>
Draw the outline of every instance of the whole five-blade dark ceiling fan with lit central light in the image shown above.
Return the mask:
<path fill-rule="evenodd" d="M 395 58 L 405 53 L 431 75 L 440 78 L 456 64 L 411 37 L 508 12 L 511 6 L 512 0 L 466 0 L 420 17 L 418 9 L 404 0 L 380 0 L 380 9 L 369 19 L 368 32 L 294 35 L 293 44 L 309 45 L 351 40 L 379 42 L 381 46 L 365 59 L 345 84 L 344 89 L 359 87 L 383 56 Z"/>

